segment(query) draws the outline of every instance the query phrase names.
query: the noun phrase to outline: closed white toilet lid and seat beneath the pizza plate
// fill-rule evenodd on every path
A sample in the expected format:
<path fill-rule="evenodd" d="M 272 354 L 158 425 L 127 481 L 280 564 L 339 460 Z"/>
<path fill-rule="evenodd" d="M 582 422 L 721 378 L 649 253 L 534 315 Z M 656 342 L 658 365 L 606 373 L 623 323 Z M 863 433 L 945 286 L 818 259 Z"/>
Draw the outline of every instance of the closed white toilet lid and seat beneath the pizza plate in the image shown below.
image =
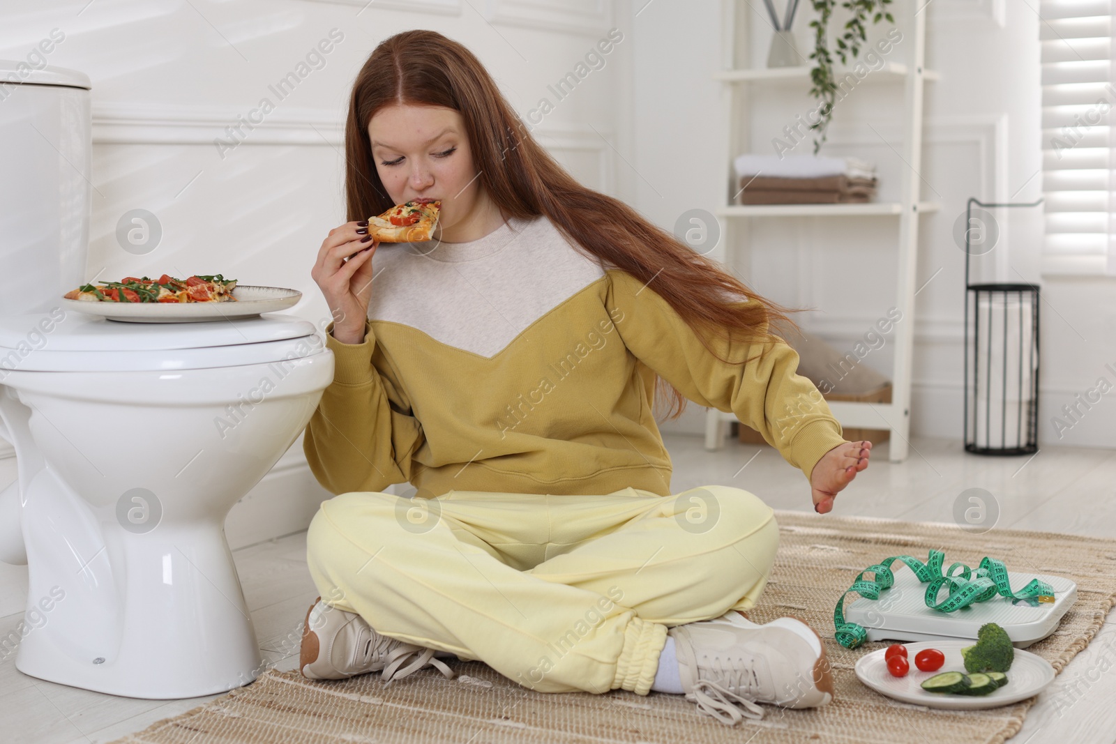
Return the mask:
<path fill-rule="evenodd" d="M 56 308 L 51 313 L 0 317 L 0 366 L 10 370 L 230 367 L 305 357 L 323 348 L 314 323 L 281 315 L 133 323 Z"/>

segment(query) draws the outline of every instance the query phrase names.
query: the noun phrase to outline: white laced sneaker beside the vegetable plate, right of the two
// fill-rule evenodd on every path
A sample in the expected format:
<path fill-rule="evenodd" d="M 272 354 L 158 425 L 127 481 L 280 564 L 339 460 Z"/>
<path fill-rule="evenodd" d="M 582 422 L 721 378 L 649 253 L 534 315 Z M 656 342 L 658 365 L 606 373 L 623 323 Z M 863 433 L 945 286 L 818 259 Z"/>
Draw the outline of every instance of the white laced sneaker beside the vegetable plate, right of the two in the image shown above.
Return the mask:
<path fill-rule="evenodd" d="M 809 708 L 834 697 L 821 638 L 797 618 L 757 625 L 730 610 L 668 632 L 686 699 L 729 725 L 762 718 L 757 703 Z"/>

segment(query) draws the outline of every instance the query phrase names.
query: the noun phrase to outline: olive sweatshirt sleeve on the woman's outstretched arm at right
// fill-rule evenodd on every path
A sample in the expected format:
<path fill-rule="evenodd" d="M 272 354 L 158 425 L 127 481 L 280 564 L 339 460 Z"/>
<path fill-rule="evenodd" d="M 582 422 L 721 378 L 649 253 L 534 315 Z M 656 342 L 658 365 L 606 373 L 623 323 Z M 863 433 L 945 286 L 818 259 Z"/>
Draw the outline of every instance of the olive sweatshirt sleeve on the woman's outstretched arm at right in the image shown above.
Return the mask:
<path fill-rule="evenodd" d="M 721 361 L 651 287 L 619 269 L 607 273 L 606 309 L 625 346 L 686 398 L 733 413 L 807 481 L 821 456 L 846 441 L 821 393 L 796 373 L 798 352 L 786 341 L 729 344 L 723 336 L 708 338 L 722 358 L 756 357 L 747 364 Z"/>

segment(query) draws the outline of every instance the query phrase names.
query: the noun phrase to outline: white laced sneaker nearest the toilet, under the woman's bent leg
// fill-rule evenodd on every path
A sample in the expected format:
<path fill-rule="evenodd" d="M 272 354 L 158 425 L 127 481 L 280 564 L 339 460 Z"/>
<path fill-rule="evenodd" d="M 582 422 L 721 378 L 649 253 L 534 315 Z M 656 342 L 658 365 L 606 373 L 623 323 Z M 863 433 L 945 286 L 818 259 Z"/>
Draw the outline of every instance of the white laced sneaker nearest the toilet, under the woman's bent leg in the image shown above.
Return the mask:
<path fill-rule="evenodd" d="M 414 657 L 408 666 L 403 664 Z M 448 679 L 453 671 L 434 658 L 433 648 L 382 636 L 356 612 L 330 607 L 318 597 L 306 612 L 298 668 L 309 679 L 345 679 L 383 671 L 384 682 L 433 666 Z"/>

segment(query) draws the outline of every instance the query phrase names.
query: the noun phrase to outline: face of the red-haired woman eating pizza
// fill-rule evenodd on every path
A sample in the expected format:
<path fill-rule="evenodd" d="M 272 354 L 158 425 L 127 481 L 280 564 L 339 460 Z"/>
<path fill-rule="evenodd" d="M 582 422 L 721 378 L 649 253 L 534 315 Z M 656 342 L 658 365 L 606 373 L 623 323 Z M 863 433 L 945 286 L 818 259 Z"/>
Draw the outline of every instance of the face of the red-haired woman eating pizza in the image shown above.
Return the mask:
<path fill-rule="evenodd" d="M 441 200 L 443 229 L 478 211 L 481 185 L 461 114 L 442 106 L 385 106 L 368 123 L 368 137 L 376 172 L 396 204 Z"/>

